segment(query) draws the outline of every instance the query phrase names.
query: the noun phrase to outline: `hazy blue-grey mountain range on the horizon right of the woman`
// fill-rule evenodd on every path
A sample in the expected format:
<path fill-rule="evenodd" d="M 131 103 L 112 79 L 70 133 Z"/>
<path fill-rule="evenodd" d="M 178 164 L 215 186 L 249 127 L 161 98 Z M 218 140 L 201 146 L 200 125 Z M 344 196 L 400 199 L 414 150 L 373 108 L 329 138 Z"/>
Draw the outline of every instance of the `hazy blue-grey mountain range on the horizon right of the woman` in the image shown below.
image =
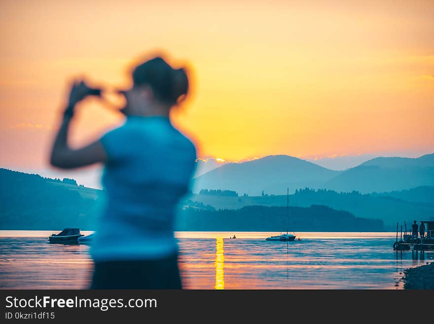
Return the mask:
<path fill-rule="evenodd" d="M 285 194 L 287 187 L 360 191 L 404 190 L 434 185 L 434 153 L 419 158 L 378 157 L 344 171 L 334 171 L 288 155 L 227 163 L 193 180 L 200 189 L 235 190 L 239 195 Z"/>

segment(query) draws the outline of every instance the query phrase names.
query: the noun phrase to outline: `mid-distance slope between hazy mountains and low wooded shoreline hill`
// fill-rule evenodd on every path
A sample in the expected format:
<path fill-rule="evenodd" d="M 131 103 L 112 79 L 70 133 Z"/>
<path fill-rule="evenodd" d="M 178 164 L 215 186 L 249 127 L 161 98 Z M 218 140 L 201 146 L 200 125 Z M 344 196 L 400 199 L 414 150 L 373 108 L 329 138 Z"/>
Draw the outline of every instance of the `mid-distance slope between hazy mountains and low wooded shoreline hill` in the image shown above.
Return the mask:
<path fill-rule="evenodd" d="M 409 190 L 414 194 L 428 197 L 432 187 L 422 187 Z M 289 205 L 298 207 L 310 207 L 311 205 L 325 205 L 335 210 L 345 210 L 355 215 L 369 219 L 381 219 L 388 229 L 393 229 L 396 222 L 410 221 L 414 219 L 434 219 L 434 206 L 425 202 L 404 201 L 413 194 L 402 194 L 397 192 L 396 198 L 389 196 L 390 193 L 381 194 L 361 194 L 359 192 L 339 193 L 332 190 L 298 190 L 295 194 L 289 195 Z M 210 195 L 190 195 L 185 201 L 184 206 L 196 208 L 215 208 L 215 209 L 240 209 L 245 206 L 286 206 L 286 195 L 275 196 L 251 196 L 251 197 L 224 197 Z M 416 217 L 416 218 L 415 218 Z"/>

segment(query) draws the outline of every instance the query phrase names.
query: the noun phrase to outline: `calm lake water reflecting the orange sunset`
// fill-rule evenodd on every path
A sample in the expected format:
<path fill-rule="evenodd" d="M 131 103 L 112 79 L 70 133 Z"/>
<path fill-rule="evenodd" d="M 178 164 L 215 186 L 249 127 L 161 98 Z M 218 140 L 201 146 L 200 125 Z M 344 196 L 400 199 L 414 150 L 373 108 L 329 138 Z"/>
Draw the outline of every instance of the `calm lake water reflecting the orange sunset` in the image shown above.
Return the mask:
<path fill-rule="evenodd" d="M 0 288 L 87 288 L 89 246 L 49 244 L 57 232 L 0 231 Z M 237 239 L 229 239 L 233 234 Z M 394 252 L 395 233 L 299 232 L 301 241 L 264 240 L 275 234 L 177 232 L 183 287 L 397 289 L 404 269 L 434 261 L 434 252 Z"/>

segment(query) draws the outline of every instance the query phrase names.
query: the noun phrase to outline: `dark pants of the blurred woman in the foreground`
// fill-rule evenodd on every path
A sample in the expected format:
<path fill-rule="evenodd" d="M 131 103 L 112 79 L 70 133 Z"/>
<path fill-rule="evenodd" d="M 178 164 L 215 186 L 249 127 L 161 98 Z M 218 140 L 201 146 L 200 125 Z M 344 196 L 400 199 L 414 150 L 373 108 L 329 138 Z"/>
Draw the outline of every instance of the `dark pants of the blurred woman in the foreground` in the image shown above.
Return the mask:
<path fill-rule="evenodd" d="M 178 257 L 95 262 L 91 289 L 181 289 Z"/>

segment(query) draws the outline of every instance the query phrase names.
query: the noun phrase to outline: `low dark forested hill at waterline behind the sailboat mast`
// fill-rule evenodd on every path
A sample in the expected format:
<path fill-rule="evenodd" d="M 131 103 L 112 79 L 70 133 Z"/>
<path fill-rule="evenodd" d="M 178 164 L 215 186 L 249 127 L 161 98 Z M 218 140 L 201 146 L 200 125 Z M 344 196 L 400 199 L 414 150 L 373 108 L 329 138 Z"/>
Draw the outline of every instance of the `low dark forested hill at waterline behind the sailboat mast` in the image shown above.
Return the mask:
<path fill-rule="evenodd" d="M 358 218 L 326 206 L 309 208 L 248 206 L 238 210 L 205 211 L 187 208 L 180 212 L 177 230 L 193 231 L 383 231 L 378 219 Z"/>

